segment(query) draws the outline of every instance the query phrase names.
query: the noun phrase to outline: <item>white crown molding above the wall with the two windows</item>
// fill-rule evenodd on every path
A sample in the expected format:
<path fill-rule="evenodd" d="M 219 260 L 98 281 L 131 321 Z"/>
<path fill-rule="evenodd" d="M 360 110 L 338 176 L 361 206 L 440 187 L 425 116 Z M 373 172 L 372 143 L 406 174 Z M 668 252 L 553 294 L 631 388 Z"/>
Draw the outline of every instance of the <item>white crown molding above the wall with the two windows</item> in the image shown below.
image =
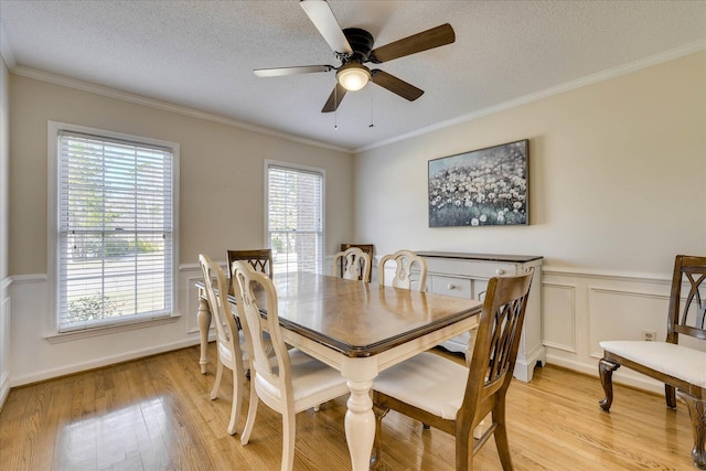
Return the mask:
<path fill-rule="evenodd" d="M 303 143 L 307 146 L 319 147 L 323 149 L 330 149 L 339 152 L 351 153 L 352 150 L 347 148 L 342 148 L 339 146 L 331 146 L 325 142 L 320 142 L 313 139 L 306 139 L 299 136 L 289 135 L 286 132 L 275 131 L 269 128 L 265 128 L 261 126 L 250 125 L 248 122 L 238 121 L 237 119 L 226 118 L 221 115 L 216 115 L 213 113 L 201 111 L 199 109 L 189 108 L 181 105 L 174 105 L 172 103 L 162 101 L 156 98 L 149 98 L 142 95 L 131 94 L 128 92 L 118 90 L 110 87 L 104 87 L 101 85 L 92 84 L 88 82 L 78 81 L 75 78 L 65 77 L 58 74 L 52 74 L 50 72 L 40 71 L 32 67 L 26 67 L 24 65 L 14 65 L 10 67 L 8 64 L 8 68 L 14 75 L 19 75 L 26 78 L 33 78 L 35 81 L 46 82 L 53 85 L 60 85 L 67 88 L 74 88 L 81 92 L 87 92 L 95 95 L 105 96 L 108 98 L 115 98 L 122 101 L 128 101 L 136 105 L 142 105 L 150 108 L 160 109 L 162 111 L 174 113 L 176 115 L 188 116 L 190 118 L 203 119 L 205 121 L 217 122 L 220 125 L 231 126 L 238 129 L 244 129 L 252 132 L 258 132 L 266 136 L 276 137 L 279 139 L 286 139 L 289 141 Z"/>

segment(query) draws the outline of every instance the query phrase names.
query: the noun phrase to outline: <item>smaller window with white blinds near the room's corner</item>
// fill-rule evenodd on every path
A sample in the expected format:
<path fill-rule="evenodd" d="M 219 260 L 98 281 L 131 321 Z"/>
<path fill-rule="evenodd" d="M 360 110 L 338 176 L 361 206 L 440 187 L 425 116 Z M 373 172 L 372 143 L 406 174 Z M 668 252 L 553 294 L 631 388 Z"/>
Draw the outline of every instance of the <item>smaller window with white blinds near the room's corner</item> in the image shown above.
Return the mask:
<path fill-rule="evenodd" d="M 272 272 L 322 272 L 323 170 L 265 162 Z"/>

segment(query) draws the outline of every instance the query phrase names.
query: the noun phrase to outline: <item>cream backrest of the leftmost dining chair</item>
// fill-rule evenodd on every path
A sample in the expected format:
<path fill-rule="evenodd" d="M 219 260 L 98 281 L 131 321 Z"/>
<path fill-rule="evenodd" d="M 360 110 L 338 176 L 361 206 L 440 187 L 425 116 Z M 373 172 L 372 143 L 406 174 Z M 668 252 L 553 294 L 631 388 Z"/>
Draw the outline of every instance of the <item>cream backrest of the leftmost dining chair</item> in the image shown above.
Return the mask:
<path fill-rule="evenodd" d="M 213 323 L 216 327 L 216 338 L 220 345 L 227 347 L 235 358 L 242 358 L 242 345 L 238 336 L 238 327 L 235 318 L 231 313 L 227 289 L 228 283 L 223 270 L 208 258 L 206 255 L 199 255 L 201 271 L 203 274 L 203 283 L 206 288 L 206 298 L 208 308 L 213 315 Z M 218 292 L 214 289 L 213 282 L 216 282 Z"/>

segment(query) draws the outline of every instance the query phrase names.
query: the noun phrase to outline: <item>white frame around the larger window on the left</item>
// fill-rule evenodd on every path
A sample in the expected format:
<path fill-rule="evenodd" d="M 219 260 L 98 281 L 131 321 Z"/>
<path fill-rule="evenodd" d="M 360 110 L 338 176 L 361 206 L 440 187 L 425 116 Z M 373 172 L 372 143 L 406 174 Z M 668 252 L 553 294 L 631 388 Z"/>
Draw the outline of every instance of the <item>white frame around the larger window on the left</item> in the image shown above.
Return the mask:
<path fill-rule="evenodd" d="M 171 306 L 167 307 L 165 314 L 159 317 L 127 317 L 114 322 L 100 323 L 78 330 L 60 331 L 60 287 L 61 287 L 61 132 L 77 132 L 92 135 L 96 138 L 122 140 L 138 144 L 156 146 L 168 148 L 172 152 L 172 254 L 171 254 Z M 50 309 L 46 320 L 44 336 L 51 343 L 63 342 L 77 338 L 99 335 L 103 333 L 114 333 L 121 330 L 130 330 L 145 327 L 145 324 L 159 324 L 173 322 L 179 319 L 178 293 L 179 293 L 179 142 L 152 139 L 143 136 L 127 135 L 124 132 L 109 131 L 105 129 L 90 128 L 86 126 L 72 125 L 58 121 L 47 121 L 47 281 Z"/>

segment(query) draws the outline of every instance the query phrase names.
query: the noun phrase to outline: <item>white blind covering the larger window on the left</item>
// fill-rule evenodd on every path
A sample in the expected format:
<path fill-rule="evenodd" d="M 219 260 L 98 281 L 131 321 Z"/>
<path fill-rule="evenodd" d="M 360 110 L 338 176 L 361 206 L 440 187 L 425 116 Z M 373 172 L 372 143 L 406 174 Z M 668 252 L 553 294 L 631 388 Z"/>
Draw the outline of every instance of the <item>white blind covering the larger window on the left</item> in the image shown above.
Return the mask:
<path fill-rule="evenodd" d="M 173 309 L 173 152 L 58 132 L 60 332 Z"/>

